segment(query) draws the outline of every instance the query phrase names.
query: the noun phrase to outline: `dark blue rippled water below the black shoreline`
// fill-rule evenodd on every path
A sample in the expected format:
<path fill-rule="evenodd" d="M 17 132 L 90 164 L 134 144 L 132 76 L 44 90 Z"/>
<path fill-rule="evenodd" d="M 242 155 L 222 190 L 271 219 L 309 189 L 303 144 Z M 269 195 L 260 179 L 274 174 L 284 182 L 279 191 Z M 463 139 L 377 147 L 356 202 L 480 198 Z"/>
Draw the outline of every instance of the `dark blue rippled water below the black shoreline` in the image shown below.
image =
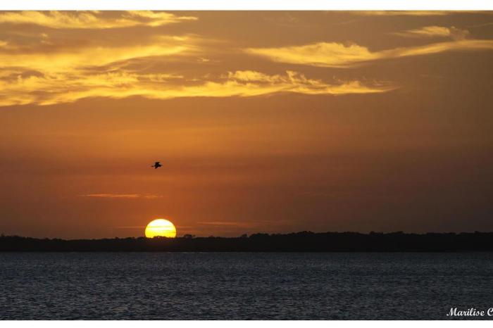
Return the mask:
<path fill-rule="evenodd" d="M 493 307 L 492 253 L 0 253 L 1 319 L 445 320 L 451 307 Z"/>

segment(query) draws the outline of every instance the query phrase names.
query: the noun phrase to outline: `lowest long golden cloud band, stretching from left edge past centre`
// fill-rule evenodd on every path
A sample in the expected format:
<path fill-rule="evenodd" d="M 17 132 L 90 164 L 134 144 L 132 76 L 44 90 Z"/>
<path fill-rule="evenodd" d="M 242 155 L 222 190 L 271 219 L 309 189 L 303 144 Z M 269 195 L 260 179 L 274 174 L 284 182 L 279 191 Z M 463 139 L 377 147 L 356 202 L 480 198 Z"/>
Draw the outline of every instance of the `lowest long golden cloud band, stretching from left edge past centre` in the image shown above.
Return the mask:
<path fill-rule="evenodd" d="M 197 82 L 198 80 L 198 82 Z M 50 105 L 68 103 L 88 97 L 123 99 L 143 96 L 149 99 L 182 97 L 261 96 L 279 92 L 298 94 L 370 94 L 389 92 L 395 86 L 382 82 L 337 81 L 327 83 L 308 79 L 299 72 L 266 75 L 255 71 L 235 71 L 216 80 L 186 79 L 166 74 L 139 72 L 75 72 L 54 75 L 18 75 L 0 80 L 0 106 L 36 103 Z"/>

